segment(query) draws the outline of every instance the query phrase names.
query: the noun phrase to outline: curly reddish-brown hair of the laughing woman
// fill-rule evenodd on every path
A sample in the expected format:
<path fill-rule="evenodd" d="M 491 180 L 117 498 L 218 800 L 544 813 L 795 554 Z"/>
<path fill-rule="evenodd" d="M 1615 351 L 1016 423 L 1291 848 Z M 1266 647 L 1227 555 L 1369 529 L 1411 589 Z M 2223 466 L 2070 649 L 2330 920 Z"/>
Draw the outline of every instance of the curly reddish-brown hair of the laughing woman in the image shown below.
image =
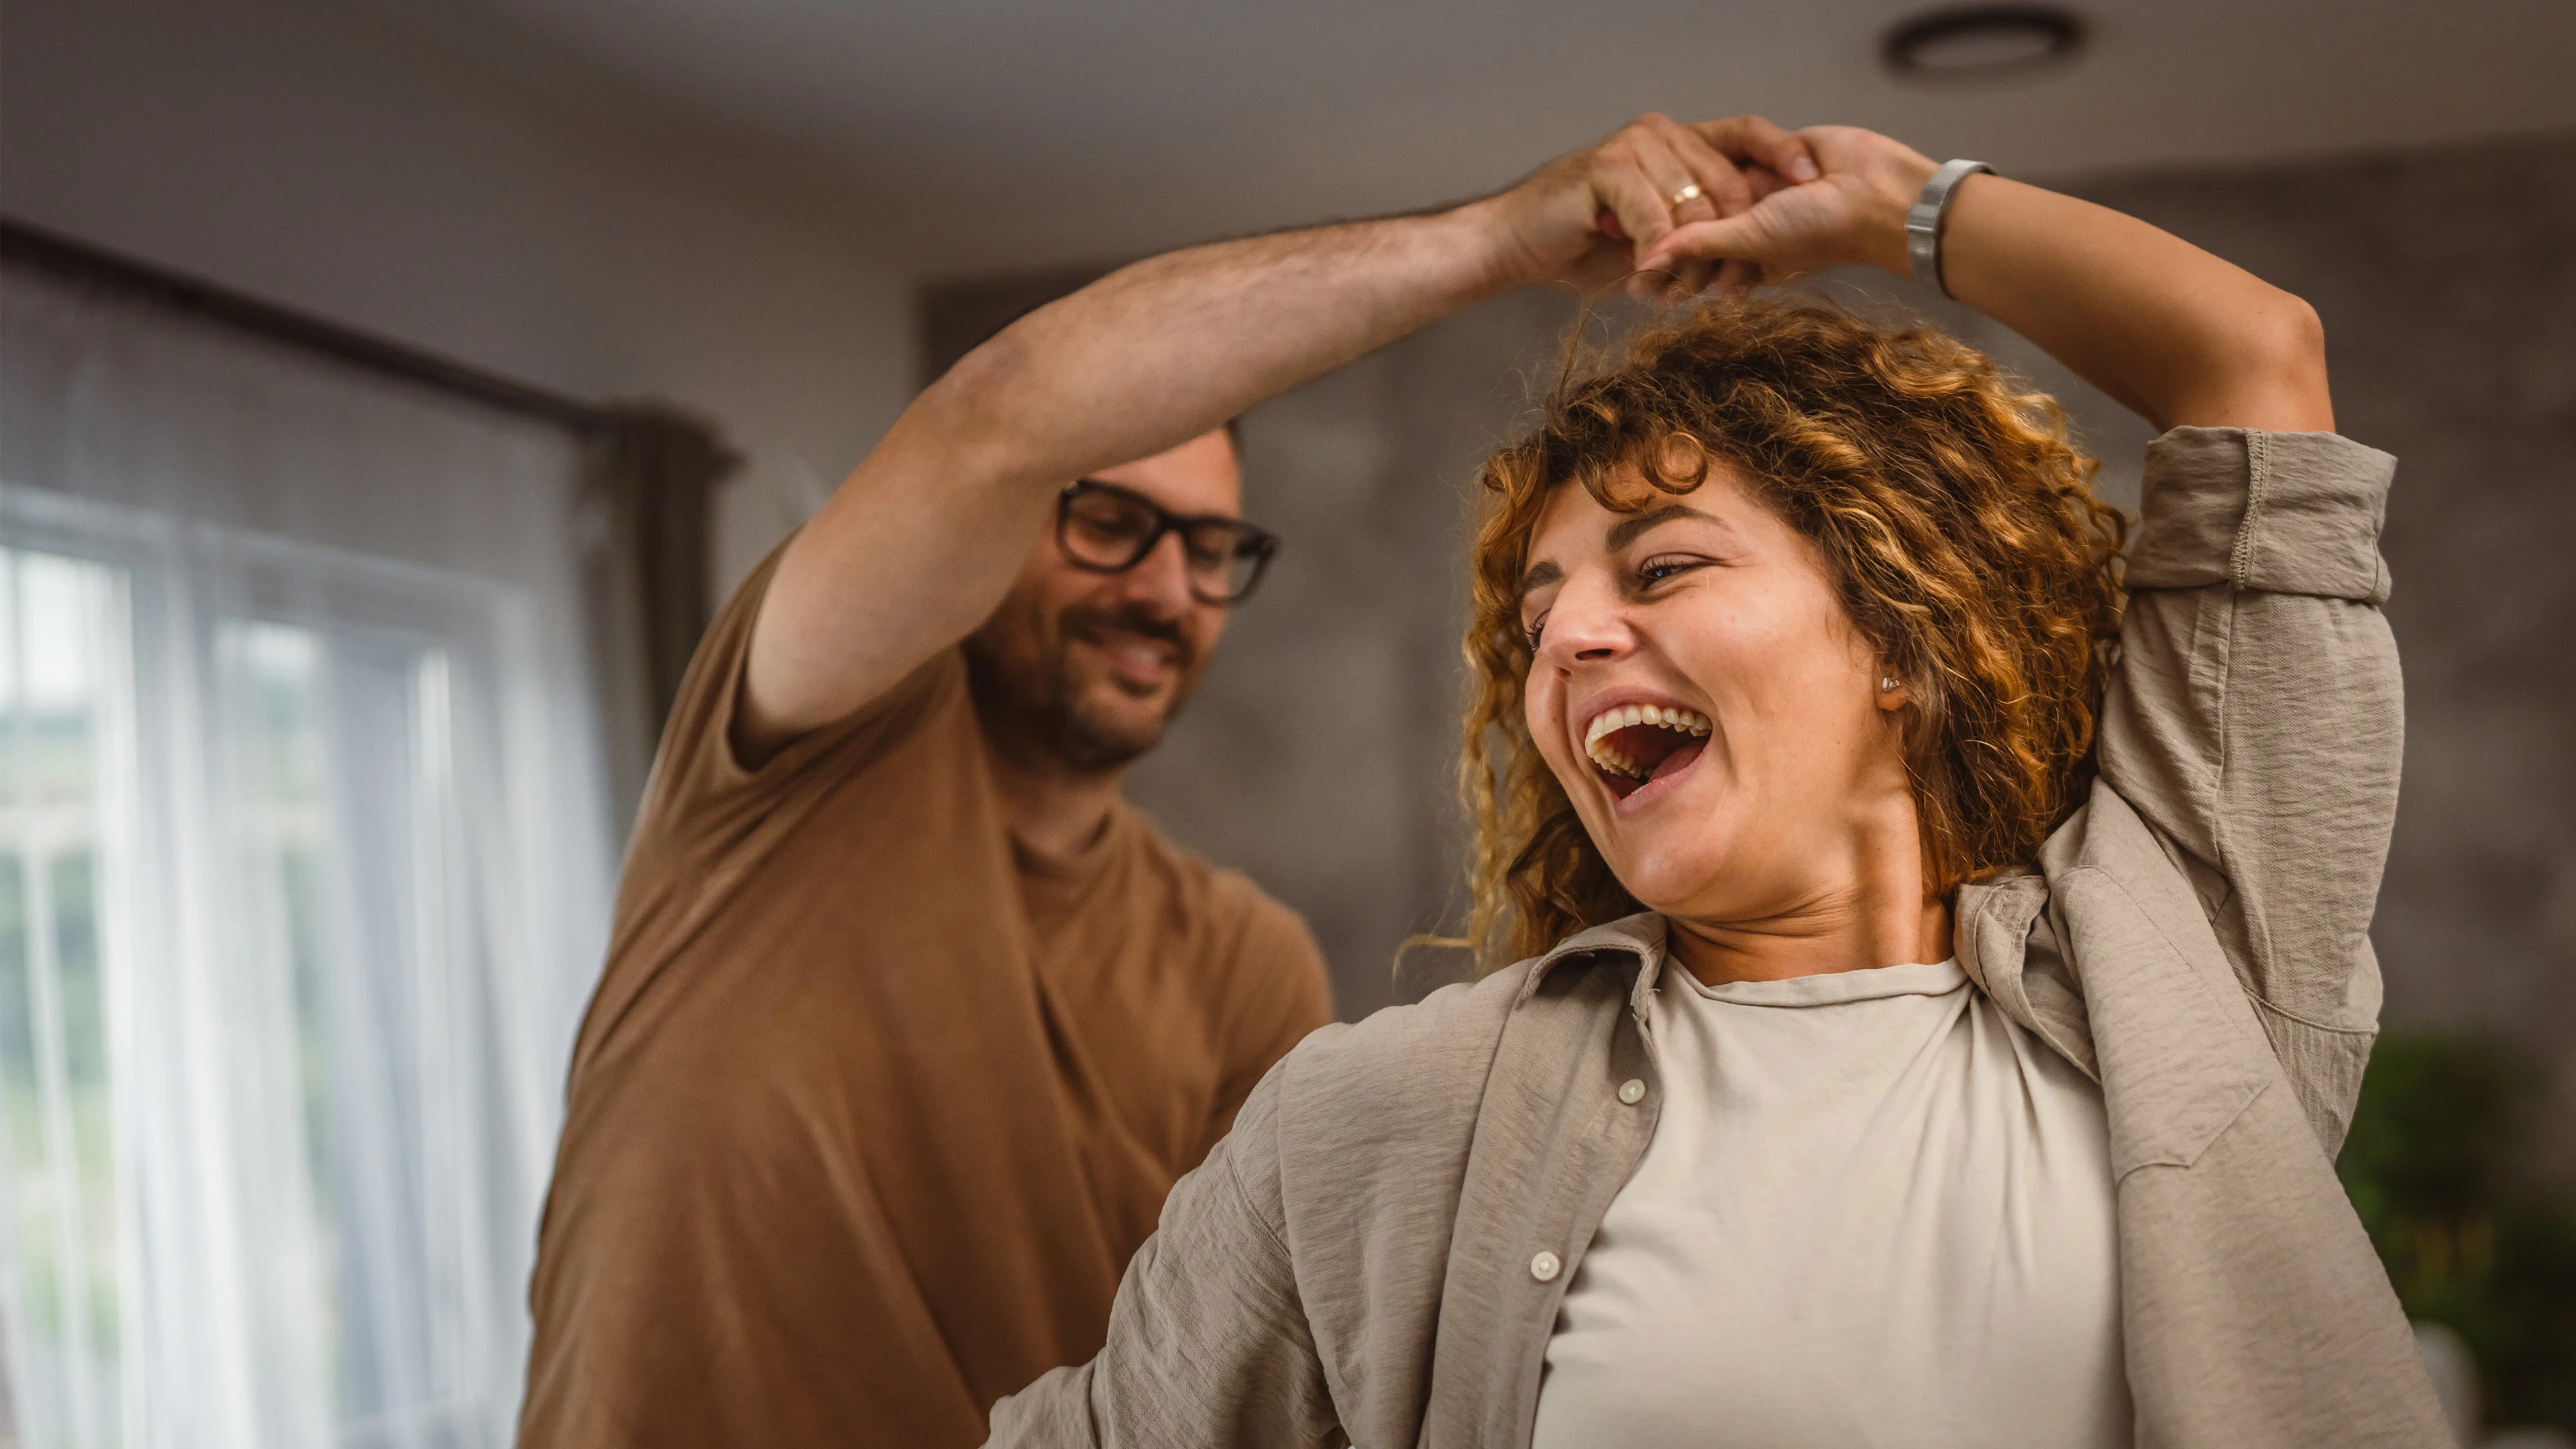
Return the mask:
<path fill-rule="evenodd" d="M 1569 379 L 1481 472 L 1463 789 L 1484 964 L 1638 910 L 1522 719 L 1520 575 L 1561 485 L 1636 511 L 1710 459 L 1814 541 L 1906 683 L 1906 766 L 1935 892 L 2038 853 L 2079 797 L 2120 629 L 2128 518 L 2056 400 L 1973 348 L 1816 302 L 1708 304 Z M 1613 490 L 1613 480 L 1643 480 Z"/>

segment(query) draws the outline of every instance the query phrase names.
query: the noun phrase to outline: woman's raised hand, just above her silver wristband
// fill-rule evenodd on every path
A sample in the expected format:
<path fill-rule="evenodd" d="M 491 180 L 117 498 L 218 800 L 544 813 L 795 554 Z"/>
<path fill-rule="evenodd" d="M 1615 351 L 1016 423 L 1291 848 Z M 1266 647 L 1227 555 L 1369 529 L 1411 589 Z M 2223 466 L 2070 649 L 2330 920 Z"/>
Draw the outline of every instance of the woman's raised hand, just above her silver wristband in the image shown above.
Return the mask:
<path fill-rule="evenodd" d="M 1757 116 L 1718 126 L 1765 126 Z M 1808 126 L 1795 139 L 1824 175 L 1780 186 L 1741 211 L 1667 227 L 1638 253 L 1641 273 L 1669 273 L 1680 289 L 1700 291 L 1692 268 L 1716 266 L 1716 286 L 1744 291 L 1757 281 L 1780 284 L 1829 266 L 1906 266 L 1906 209 L 1935 162 L 1860 126 Z"/>

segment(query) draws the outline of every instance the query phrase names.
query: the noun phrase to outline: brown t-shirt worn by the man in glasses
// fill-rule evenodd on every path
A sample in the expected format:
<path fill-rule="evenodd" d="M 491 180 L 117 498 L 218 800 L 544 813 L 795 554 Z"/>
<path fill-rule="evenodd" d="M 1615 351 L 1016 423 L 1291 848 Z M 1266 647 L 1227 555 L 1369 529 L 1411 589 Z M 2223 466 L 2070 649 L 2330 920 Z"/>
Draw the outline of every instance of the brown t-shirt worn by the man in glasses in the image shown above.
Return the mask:
<path fill-rule="evenodd" d="M 1118 807 L 1010 833 L 956 650 L 742 768 L 770 565 L 662 743 L 538 1230 L 520 1444 L 976 1444 L 1332 1016 L 1306 926 Z"/>

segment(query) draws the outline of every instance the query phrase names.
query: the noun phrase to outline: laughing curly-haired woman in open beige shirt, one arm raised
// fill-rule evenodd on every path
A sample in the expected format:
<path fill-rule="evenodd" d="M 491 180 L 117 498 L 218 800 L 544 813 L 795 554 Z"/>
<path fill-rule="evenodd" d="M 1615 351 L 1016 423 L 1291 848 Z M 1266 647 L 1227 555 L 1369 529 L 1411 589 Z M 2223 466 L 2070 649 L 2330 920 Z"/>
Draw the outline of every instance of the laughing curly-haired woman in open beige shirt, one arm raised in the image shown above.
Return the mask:
<path fill-rule="evenodd" d="M 1716 304 L 1564 389 L 1468 634 L 1530 959 L 1280 1062 L 997 1444 L 2447 1444 L 2331 1171 L 2393 459 L 2295 297 L 1803 137 L 1641 266 L 1929 263 L 2166 428 L 2125 611 L 2056 405 L 1947 338 Z"/>

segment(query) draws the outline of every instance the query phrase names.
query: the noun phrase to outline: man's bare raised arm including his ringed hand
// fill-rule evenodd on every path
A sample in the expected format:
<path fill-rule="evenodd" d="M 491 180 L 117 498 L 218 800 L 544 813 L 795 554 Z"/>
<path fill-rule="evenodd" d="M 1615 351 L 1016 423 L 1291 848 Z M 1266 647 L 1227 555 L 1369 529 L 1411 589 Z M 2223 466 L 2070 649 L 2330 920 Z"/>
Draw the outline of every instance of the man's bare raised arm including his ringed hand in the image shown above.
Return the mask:
<path fill-rule="evenodd" d="M 922 392 L 788 544 L 737 743 L 840 719 L 974 632 L 1066 482 L 1486 297 L 1618 281 L 1631 242 L 1808 175 L 1806 142 L 1765 121 L 1643 116 L 1466 206 L 1170 253 L 1030 312 Z M 1718 273 L 1685 268 L 1692 289 Z"/>

